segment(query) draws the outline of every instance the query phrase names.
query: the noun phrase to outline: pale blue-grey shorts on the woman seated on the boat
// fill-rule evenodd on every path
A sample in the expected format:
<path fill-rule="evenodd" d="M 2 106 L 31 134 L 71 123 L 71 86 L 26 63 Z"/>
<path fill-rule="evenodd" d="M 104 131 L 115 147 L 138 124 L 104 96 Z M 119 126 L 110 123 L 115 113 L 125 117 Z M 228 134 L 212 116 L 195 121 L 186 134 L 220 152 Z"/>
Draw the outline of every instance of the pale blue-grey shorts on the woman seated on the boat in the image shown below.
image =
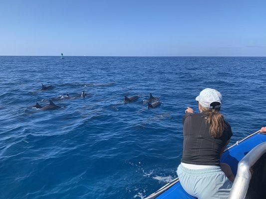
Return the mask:
<path fill-rule="evenodd" d="M 180 164 L 177 175 L 184 190 L 198 199 L 227 199 L 233 185 L 220 168 L 196 170 Z"/>

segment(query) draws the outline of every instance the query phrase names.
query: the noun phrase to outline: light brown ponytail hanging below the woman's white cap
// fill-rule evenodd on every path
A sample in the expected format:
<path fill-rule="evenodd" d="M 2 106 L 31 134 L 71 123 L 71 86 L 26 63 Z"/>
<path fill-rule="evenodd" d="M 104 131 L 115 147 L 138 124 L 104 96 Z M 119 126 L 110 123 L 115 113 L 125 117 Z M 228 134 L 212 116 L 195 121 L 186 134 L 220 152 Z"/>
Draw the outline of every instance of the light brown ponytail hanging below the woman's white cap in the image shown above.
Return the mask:
<path fill-rule="evenodd" d="M 206 123 L 210 125 L 210 135 L 214 138 L 221 137 L 225 128 L 225 120 L 224 116 L 219 113 L 220 108 L 210 109 L 201 106 L 201 109 L 202 112 L 207 113 Z"/>

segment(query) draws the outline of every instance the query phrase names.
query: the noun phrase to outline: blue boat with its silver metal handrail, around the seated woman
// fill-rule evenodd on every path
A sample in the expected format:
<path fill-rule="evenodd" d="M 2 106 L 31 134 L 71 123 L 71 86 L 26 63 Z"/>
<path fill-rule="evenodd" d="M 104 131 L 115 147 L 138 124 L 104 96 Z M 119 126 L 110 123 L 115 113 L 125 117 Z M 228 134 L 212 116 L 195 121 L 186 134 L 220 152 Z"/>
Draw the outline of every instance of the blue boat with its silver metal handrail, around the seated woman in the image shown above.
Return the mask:
<path fill-rule="evenodd" d="M 229 199 L 266 198 L 266 134 L 257 131 L 225 150 L 221 162 L 236 176 Z M 145 199 L 196 199 L 185 192 L 178 178 Z"/>

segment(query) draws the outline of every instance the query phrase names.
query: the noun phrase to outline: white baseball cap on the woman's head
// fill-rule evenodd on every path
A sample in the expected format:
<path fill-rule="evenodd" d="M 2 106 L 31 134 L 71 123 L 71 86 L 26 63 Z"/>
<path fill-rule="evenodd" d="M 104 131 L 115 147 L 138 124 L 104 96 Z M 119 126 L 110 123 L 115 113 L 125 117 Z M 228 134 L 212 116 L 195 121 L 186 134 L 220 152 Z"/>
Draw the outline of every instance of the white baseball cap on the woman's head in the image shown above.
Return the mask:
<path fill-rule="evenodd" d="M 207 88 L 201 91 L 196 100 L 205 108 L 220 108 L 223 97 L 219 91 Z"/>

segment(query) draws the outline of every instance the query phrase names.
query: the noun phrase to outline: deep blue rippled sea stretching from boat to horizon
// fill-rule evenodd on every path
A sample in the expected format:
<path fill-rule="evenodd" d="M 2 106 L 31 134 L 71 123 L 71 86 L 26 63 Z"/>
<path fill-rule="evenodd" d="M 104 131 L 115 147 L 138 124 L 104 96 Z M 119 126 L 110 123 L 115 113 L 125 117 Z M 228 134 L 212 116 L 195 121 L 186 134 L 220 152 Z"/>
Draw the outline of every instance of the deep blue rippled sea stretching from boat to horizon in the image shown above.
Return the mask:
<path fill-rule="evenodd" d="M 1 56 L 0 199 L 143 199 L 177 177 L 182 116 L 205 88 L 231 144 L 266 125 L 266 57 Z M 61 108 L 31 107 L 49 99 Z"/>

